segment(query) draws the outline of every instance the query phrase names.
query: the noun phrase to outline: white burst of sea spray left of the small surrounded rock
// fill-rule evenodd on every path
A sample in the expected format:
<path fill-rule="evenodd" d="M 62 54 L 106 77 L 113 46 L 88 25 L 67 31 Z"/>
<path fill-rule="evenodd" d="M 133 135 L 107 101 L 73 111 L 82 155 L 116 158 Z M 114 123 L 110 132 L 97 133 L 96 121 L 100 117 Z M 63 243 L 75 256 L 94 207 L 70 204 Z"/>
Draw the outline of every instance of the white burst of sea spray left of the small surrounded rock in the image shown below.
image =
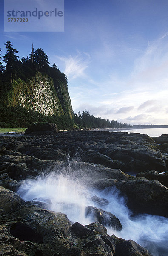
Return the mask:
<path fill-rule="evenodd" d="M 91 216 L 85 217 L 85 207 L 93 205 L 92 192 L 89 192 L 71 172 L 41 175 L 37 180 L 26 180 L 17 193 L 25 201 L 48 203 L 47 209 L 68 215 L 72 222 L 88 224 L 93 221 Z"/>

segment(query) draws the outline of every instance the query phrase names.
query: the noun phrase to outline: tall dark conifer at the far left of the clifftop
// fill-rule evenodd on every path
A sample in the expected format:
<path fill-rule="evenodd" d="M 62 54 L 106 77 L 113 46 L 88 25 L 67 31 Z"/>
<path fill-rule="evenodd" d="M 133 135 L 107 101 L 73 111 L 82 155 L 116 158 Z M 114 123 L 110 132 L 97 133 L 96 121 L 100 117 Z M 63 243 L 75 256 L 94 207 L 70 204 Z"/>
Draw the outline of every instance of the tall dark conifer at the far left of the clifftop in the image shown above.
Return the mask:
<path fill-rule="evenodd" d="M 5 72 L 10 73 L 11 75 L 11 83 L 14 81 L 14 76 L 17 71 L 17 56 L 18 51 L 12 48 L 11 41 L 6 41 L 5 43 L 6 54 L 3 56 L 3 60 L 6 63 Z"/>

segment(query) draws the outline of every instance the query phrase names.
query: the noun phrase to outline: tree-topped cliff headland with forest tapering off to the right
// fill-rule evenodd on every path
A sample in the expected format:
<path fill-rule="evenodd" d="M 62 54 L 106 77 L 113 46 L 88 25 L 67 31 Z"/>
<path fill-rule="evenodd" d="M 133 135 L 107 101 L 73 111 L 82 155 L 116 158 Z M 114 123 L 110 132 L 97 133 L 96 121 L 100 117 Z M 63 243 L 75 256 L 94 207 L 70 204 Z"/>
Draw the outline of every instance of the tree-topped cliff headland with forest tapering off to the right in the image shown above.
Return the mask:
<path fill-rule="evenodd" d="M 94 117 L 86 110 L 73 113 L 67 77 L 55 63 L 49 66 L 43 49 L 34 50 L 32 45 L 30 55 L 19 60 L 11 41 L 4 45 L 6 54 L 0 57 L 0 127 L 52 122 L 58 129 L 131 128 L 130 124 Z"/>

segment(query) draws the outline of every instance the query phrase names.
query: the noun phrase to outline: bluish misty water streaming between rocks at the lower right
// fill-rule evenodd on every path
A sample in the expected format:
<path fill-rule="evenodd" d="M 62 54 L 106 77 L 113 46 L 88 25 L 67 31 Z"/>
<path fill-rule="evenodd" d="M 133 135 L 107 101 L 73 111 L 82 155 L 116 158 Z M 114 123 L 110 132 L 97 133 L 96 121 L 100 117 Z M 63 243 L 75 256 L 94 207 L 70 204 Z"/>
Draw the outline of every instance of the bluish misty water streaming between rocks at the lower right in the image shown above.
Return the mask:
<path fill-rule="evenodd" d="M 154 256 L 168 255 L 168 218 L 148 214 L 132 217 L 132 212 L 116 189 L 106 188 L 98 196 L 109 201 L 106 210 L 116 215 L 123 227 L 120 232 L 107 227 L 109 235 L 132 239 Z"/>

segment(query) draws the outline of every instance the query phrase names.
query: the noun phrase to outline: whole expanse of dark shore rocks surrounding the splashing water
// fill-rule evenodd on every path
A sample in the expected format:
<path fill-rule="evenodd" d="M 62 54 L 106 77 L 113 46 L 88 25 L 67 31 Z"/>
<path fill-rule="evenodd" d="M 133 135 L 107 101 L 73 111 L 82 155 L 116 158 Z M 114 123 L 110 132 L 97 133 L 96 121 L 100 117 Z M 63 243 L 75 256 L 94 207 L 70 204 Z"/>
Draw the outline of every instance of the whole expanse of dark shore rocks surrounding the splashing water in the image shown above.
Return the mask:
<path fill-rule="evenodd" d="M 107 234 L 103 225 L 122 230 L 113 212 L 87 206 L 92 224 L 71 223 L 45 203 L 16 194 L 24 180 L 42 172 L 71 172 L 88 188 L 119 189 L 132 215 L 168 217 L 168 135 L 64 131 L 54 135 L 0 137 L 0 255 L 149 256 L 132 240 Z M 129 175 L 132 173 L 135 176 Z M 101 218 L 100 218 L 101 217 Z"/>

